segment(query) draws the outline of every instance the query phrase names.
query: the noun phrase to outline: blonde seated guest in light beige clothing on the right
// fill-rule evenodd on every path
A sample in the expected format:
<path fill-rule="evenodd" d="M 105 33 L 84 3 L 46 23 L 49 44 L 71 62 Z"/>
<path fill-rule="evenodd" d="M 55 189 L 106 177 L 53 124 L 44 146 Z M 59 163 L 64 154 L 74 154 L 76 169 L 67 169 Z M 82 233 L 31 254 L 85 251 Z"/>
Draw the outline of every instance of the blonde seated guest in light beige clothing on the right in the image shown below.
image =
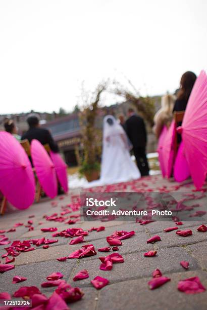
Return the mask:
<path fill-rule="evenodd" d="M 175 97 L 173 95 L 165 95 L 161 99 L 161 108 L 154 115 L 153 132 L 159 138 L 164 126 L 169 128 L 173 119 L 173 107 L 175 104 Z"/>

